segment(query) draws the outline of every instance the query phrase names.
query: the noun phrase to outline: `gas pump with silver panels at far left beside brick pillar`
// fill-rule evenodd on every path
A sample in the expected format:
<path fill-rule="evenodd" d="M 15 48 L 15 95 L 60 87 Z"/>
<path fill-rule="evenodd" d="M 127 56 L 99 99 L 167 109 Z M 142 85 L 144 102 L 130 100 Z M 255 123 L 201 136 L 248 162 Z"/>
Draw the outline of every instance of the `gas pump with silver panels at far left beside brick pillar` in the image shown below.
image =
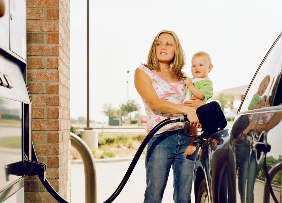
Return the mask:
<path fill-rule="evenodd" d="M 25 8 L 25 0 L 0 1 L 0 202 L 24 202 L 24 175 L 31 173 L 24 169 L 38 166 L 31 161 Z"/>

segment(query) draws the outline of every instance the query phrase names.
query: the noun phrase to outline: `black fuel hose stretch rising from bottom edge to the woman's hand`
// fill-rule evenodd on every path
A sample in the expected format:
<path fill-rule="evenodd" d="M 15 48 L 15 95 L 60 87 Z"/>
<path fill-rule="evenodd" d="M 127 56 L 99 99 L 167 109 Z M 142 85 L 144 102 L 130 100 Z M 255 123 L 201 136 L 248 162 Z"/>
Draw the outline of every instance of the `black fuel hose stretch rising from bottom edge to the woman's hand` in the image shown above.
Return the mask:
<path fill-rule="evenodd" d="M 170 123 L 176 123 L 176 122 L 184 122 L 184 121 L 188 121 L 187 115 L 179 115 L 179 116 L 175 116 L 175 117 L 171 117 L 168 119 L 163 120 L 162 122 L 160 122 L 159 124 L 157 124 L 149 133 L 148 135 L 144 138 L 144 140 L 142 141 L 140 147 L 138 148 L 135 156 L 132 159 L 132 162 L 130 163 L 130 166 L 127 169 L 127 172 L 125 173 L 122 181 L 120 182 L 120 185 L 117 187 L 117 189 L 115 190 L 115 192 L 103 203 L 110 203 L 113 202 L 115 200 L 115 198 L 120 194 L 120 192 L 122 191 L 123 187 L 125 186 L 127 180 L 129 179 L 133 169 L 135 168 L 135 165 L 137 163 L 137 161 L 139 160 L 144 148 L 146 147 L 147 143 L 150 141 L 150 139 L 152 138 L 153 135 L 155 135 L 155 133 L 162 128 L 163 126 L 170 124 Z"/>

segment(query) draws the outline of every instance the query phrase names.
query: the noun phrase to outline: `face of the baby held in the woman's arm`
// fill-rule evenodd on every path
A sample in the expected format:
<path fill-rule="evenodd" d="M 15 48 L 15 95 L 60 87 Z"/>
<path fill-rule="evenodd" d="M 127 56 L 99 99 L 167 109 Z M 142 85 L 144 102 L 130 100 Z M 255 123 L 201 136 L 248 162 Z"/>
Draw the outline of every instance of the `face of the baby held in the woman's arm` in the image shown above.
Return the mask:
<path fill-rule="evenodd" d="M 191 72 L 194 77 L 207 77 L 209 71 L 212 70 L 212 65 L 209 64 L 207 57 L 198 56 L 192 59 Z"/>

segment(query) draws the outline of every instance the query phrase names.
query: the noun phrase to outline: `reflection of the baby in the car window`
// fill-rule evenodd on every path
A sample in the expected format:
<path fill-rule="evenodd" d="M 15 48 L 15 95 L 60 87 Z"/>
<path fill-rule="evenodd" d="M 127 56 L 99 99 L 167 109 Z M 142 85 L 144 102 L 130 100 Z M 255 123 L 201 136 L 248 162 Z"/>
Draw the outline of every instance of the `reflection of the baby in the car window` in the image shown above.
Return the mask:
<path fill-rule="evenodd" d="M 251 103 L 249 104 L 248 110 L 259 109 L 261 106 L 265 105 L 265 99 L 261 99 L 261 96 L 264 94 L 269 82 L 270 76 L 266 75 L 259 84 L 259 89 L 256 94 L 254 94 Z"/>

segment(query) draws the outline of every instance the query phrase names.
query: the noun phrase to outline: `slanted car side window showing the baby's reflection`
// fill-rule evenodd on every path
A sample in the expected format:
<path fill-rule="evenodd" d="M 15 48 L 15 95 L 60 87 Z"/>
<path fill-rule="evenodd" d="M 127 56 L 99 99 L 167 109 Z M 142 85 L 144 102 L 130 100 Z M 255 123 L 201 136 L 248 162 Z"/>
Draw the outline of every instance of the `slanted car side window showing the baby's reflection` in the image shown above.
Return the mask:
<path fill-rule="evenodd" d="M 268 53 L 241 105 L 240 112 L 270 106 L 271 94 L 282 67 L 282 37 Z M 272 102 L 273 103 L 273 102 Z"/>

